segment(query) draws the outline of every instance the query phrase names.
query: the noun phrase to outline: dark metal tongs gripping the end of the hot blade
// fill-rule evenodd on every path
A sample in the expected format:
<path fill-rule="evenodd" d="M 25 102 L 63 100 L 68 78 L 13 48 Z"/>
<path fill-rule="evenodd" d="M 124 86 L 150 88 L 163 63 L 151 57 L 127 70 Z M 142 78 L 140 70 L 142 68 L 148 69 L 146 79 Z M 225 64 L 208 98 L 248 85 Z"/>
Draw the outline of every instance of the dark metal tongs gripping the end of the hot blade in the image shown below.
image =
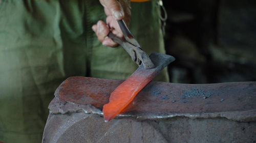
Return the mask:
<path fill-rule="evenodd" d="M 143 64 L 143 67 L 145 69 L 154 68 L 155 65 L 150 60 L 150 57 L 146 54 L 146 52 L 144 52 L 141 49 L 139 43 L 137 42 L 137 40 L 134 39 L 132 33 L 127 28 L 124 21 L 118 20 L 117 22 L 121 28 L 124 39 L 121 39 L 121 38 L 115 36 L 111 32 L 108 34 L 108 37 L 111 38 L 114 42 L 121 45 L 126 50 L 126 52 L 128 52 L 131 55 L 133 61 L 136 62 L 136 64 L 138 64 L 138 65 Z"/>

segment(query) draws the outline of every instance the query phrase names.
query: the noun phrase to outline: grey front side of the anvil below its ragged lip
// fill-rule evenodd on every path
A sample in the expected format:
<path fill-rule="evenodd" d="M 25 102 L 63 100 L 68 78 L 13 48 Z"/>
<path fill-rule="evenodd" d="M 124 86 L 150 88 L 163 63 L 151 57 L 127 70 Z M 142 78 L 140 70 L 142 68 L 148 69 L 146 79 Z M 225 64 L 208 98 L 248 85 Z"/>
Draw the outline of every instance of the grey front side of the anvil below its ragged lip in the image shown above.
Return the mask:
<path fill-rule="evenodd" d="M 49 115 L 42 142 L 255 142 L 256 122 L 225 118 L 170 118 L 137 121 L 113 119 L 105 123 L 94 114 Z"/>

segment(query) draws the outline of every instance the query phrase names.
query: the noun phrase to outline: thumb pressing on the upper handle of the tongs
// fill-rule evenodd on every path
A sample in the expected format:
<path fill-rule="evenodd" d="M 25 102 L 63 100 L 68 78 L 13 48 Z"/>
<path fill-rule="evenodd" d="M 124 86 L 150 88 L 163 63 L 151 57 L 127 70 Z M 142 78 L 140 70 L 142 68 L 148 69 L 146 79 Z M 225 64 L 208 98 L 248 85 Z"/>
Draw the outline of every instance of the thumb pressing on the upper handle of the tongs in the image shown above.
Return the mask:
<path fill-rule="evenodd" d="M 116 20 L 121 20 L 124 17 L 124 12 L 121 4 L 117 0 L 100 0 L 100 3 L 111 12 L 111 15 Z"/>

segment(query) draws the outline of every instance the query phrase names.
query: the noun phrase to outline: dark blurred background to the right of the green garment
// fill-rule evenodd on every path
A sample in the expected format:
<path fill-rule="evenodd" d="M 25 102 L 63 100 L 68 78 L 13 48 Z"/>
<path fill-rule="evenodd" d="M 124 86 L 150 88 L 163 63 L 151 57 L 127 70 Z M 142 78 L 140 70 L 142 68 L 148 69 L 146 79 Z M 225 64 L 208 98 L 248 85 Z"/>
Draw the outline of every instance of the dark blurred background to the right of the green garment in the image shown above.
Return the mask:
<path fill-rule="evenodd" d="M 256 81 L 256 1 L 163 0 L 163 5 L 166 52 L 176 58 L 168 67 L 170 82 Z"/>

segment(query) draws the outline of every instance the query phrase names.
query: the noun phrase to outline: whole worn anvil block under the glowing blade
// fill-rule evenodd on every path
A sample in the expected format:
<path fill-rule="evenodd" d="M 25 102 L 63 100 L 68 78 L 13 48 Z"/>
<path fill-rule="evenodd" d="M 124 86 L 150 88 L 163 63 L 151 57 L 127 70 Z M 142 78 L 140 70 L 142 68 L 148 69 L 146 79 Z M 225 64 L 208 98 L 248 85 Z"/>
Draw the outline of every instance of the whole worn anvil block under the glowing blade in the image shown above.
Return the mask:
<path fill-rule="evenodd" d="M 256 82 L 152 81 L 105 123 L 102 107 L 121 82 L 63 81 L 49 105 L 42 142 L 256 142 Z"/>

